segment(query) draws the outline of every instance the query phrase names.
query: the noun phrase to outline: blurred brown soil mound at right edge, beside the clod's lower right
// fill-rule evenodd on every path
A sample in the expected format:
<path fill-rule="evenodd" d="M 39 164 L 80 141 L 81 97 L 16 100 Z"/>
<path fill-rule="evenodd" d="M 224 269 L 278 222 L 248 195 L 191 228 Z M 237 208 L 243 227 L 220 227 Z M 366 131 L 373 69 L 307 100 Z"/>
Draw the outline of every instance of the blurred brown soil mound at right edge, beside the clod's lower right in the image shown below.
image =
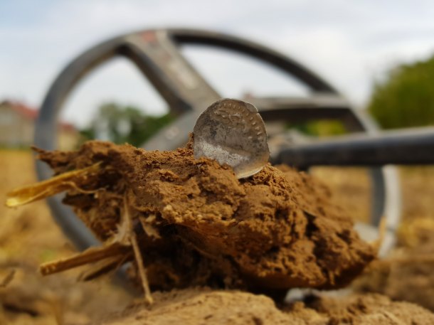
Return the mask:
<path fill-rule="evenodd" d="M 415 302 L 434 311 L 434 219 L 406 220 L 400 246 L 386 260 L 375 262 L 354 287 L 396 300 Z"/>

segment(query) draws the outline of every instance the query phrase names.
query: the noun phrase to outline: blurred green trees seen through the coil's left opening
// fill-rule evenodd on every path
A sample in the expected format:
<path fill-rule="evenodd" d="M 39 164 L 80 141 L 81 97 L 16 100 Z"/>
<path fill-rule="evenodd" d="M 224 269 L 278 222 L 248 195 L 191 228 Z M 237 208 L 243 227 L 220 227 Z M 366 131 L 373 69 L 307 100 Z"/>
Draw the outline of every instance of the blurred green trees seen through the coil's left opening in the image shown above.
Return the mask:
<path fill-rule="evenodd" d="M 173 120 L 170 114 L 159 117 L 144 114 L 137 107 L 116 103 L 101 105 L 90 127 L 81 130 L 84 139 L 104 139 L 117 144 L 140 146 Z"/>

